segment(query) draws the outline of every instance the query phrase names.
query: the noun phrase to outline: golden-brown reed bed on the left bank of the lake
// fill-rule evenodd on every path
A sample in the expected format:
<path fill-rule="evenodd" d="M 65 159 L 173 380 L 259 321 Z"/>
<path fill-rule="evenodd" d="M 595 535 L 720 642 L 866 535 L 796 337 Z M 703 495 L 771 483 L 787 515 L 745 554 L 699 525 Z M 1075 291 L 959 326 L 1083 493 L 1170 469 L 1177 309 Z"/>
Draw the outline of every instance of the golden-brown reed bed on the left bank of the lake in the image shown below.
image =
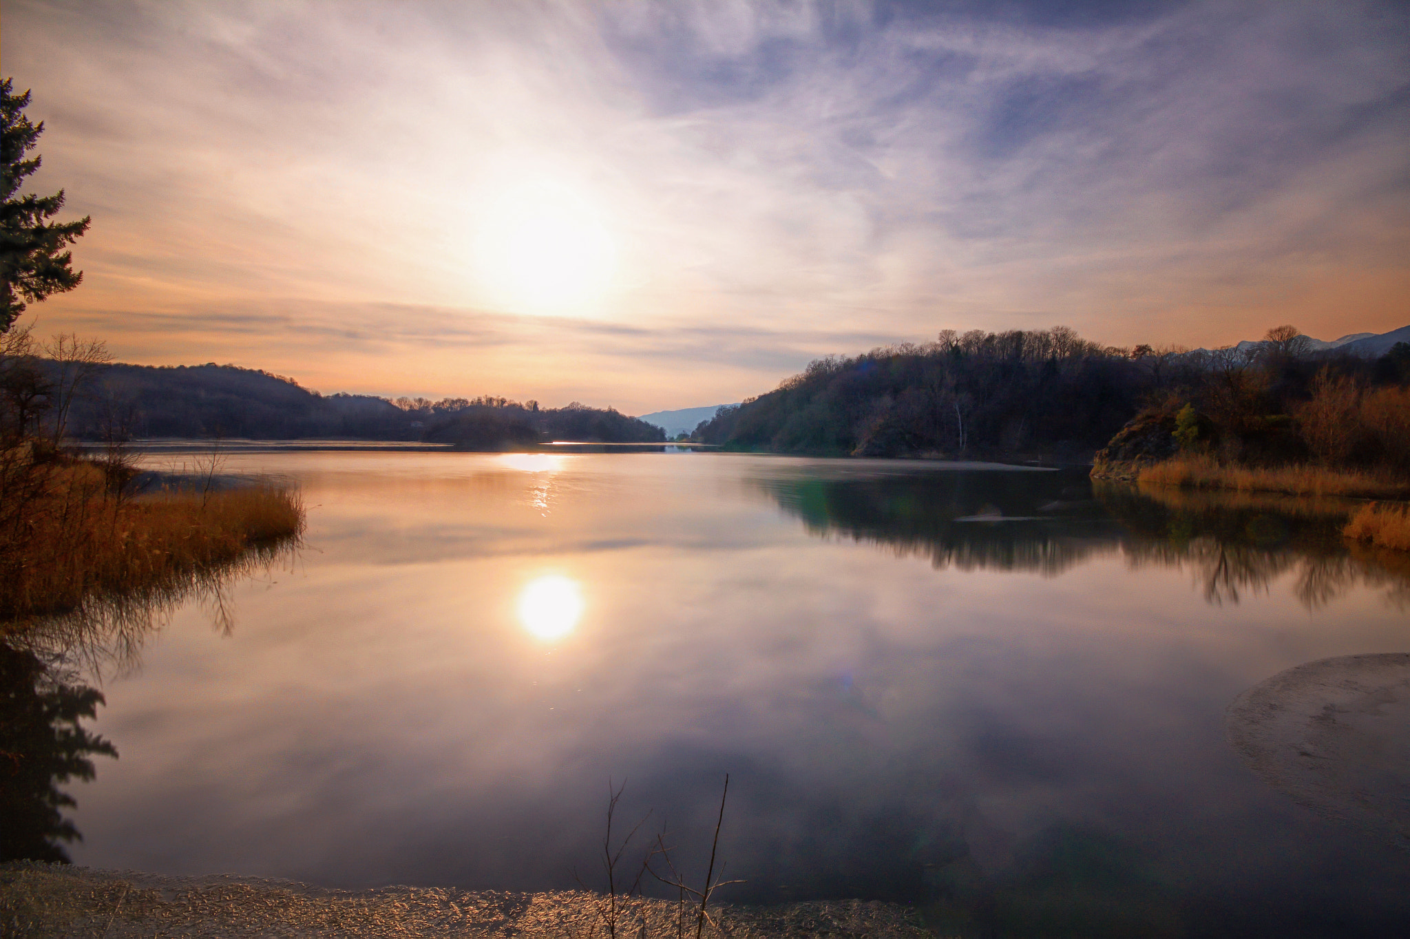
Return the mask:
<path fill-rule="evenodd" d="M 0 632 L 70 613 L 96 596 L 169 589 L 303 530 L 298 491 L 114 498 L 99 467 L 32 468 L 0 533 Z"/>

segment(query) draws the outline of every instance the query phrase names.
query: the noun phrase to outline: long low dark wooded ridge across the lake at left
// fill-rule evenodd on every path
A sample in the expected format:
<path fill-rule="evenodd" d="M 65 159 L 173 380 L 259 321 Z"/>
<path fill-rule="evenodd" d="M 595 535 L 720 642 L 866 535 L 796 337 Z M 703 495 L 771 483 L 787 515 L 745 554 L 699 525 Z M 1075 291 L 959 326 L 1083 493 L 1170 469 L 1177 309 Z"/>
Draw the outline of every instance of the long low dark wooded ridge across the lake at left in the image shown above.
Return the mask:
<path fill-rule="evenodd" d="M 8 412 L 78 440 L 345 438 L 434 441 L 501 450 L 548 440 L 656 443 L 660 427 L 613 409 L 543 409 L 503 398 L 386 399 L 320 395 L 290 378 L 234 365 L 114 365 L 48 357 L 0 368 Z"/>

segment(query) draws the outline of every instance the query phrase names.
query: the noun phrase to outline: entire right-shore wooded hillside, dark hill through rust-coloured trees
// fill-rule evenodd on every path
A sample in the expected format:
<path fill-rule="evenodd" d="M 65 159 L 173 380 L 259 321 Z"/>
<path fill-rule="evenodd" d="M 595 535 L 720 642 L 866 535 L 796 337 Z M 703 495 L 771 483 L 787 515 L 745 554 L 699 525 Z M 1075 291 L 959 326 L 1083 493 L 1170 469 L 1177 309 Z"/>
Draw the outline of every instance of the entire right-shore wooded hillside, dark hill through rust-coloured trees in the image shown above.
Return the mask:
<path fill-rule="evenodd" d="M 1400 392 L 1378 389 L 1410 379 L 1407 352 L 1403 343 L 1379 360 L 1313 352 L 1293 327 L 1214 351 L 1105 347 L 1062 326 L 945 330 L 925 345 L 816 360 L 694 438 L 776 453 L 1086 460 L 1138 413 L 1173 453 L 1176 415 L 1190 406 L 1198 429 L 1186 436 L 1234 460 L 1376 462 L 1389 458 L 1386 415 L 1407 413 Z"/>

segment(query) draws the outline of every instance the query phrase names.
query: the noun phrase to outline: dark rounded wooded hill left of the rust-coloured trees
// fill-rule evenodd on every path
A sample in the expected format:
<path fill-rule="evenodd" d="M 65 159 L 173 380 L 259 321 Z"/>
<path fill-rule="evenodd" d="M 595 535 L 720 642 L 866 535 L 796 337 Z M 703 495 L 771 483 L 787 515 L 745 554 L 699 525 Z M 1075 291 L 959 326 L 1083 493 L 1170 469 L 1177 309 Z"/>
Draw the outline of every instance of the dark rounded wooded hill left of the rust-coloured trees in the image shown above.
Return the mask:
<path fill-rule="evenodd" d="M 1152 383 L 1146 364 L 1067 327 L 946 330 L 926 345 L 819 358 L 694 436 L 777 453 L 1080 458 L 1121 429 Z"/>

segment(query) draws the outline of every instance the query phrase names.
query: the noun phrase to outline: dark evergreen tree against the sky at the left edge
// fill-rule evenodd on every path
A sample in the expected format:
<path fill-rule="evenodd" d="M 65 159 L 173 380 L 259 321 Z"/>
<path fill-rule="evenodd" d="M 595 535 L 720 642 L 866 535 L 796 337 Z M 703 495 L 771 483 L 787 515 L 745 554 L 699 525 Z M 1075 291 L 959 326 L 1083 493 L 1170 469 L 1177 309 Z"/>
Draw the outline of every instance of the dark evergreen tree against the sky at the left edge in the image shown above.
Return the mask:
<path fill-rule="evenodd" d="M 63 190 L 52 196 L 18 196 L 25 178 L 39 168 L 39 156 L 25 159 L 44 133 L 44 121 L 24 116 L 30 93 L 11 93 L 10 79 L 0 82 L 0 333 L 24 312 L 25 302 L 72 290 L 83 279 L 72 268 L 73 252 L 63 251 L 87 231 L 89 219 L 48 221 L 63 207 Z"/>

